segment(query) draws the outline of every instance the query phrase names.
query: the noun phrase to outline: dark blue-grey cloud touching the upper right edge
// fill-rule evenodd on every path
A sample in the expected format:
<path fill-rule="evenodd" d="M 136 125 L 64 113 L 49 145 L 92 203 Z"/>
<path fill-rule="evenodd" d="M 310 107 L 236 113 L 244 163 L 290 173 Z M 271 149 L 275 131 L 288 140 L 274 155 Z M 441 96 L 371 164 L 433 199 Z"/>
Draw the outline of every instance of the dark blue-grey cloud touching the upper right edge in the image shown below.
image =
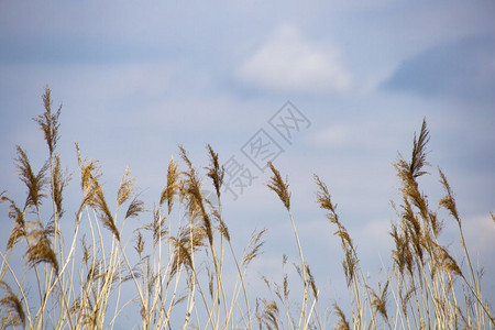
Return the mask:
<path fill-rule="evenodd" d="M 424 97 L 491 99 L 495 90 L 495 40 L 471 37 L 431 47 L 404 62 L 383 87 Z"/>

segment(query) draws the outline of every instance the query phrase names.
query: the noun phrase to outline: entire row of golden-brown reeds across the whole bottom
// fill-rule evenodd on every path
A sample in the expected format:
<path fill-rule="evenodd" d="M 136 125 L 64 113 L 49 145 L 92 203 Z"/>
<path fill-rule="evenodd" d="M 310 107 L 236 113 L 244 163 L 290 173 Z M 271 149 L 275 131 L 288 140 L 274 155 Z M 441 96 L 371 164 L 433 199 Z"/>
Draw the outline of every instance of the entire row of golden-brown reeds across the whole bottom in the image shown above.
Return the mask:
<path fill-rule="evenodd" d="M 495 326 L 491 306 L 482 296 L 479 273 L 465 244 L 462 220 L 446 175 L 439 169 L 446 190 L 439 207 L 457 223 L 466 266 L 440 243 L 444 223 L 419 188 L 418 178 L 429 165 L 426 160 L 429 132 L 425 121 L 419 135 L 415 135 L 410 160 L 399 156 L 394 164 L 402 183 L 402 204 L 396 207 L 397 221 L 389 232 L 395 244 L 392 270 L 376 289 L 366 282 L 358 250 L 339 218 L 329 188 L 315 175 L 317 205 L 326 212 L 341 243 L 343 273 L 351 296 L 349 308 L 320 301 L 292 213 L 288 182 L 268 163 L 272 177 L 267 188 L 287 210 L 299 253 L 296 270 L 301 296 L 295 311 L 287 274 L 280 284 L 262 278 L 275 300 L 249 295 L 246 272 L 262 253 L 266 229 L 254 231 L 238 256 L 222 217 L 224 169 L 210 145 L 206 174 L 217 201 L 213 204 L 202 194 L 199 172 L 179 146 L 184 169 L 170 160 L 158 202 L 147 210 L 136 194 L 129 168 L 122 176 L 117 199 L 109 200 L 98 162 L 85 160 L 76 144 L 81 201 L 72 218 L 64 210 L 70 175 L 62 169 L 57 153 L 62 109 L 52 112 L 50 88 L 45 89 L 43 105 L 45 111 L 35 122 L 44 133 L 47 160 L 36 172 L 28 153 L 18 146 L 15 164 L 28 189 L 25 200 L 18 204 L 4 193 L 0 195 L 12 220 L 11 234 L 1 251 L 1 329 L 107 329 L 113 328 L 128 310 L 140 311 L 142 329 L 326 329 L 331 323 L 336 329 Z M 150 215 L 148 223 L 138 226 L 131 221 Z M 495 221 L 495 216 L 491 216 Z M 72 222 L 72 230 L 63 231 L 62 221 Z M 20 252 L 24 254 L 24 270 L 18 270 L 13 263 Z M 283 265 L 286 263 L 284 255 Z M 237 272 L 233 282 L 224 280 L 228 265 Z M 334 310 L 332 322 L 322 319 L 320 305 Z M 346 316 L 344 310 L 351 315 Z"/>

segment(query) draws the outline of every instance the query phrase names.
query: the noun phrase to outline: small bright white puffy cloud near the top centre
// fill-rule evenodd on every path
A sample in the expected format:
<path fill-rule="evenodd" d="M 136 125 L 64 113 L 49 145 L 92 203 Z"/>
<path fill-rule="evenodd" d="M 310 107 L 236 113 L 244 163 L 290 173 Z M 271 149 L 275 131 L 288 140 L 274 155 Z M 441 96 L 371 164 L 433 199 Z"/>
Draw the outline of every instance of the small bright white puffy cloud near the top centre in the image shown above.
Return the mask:
<path fill-rule="evenodd" d="M 306 40 L 290 25 L 272 33 L 241 65 L 238 76 L 272 91 L 343 92 L 351 85 L 337 48 Z"/>

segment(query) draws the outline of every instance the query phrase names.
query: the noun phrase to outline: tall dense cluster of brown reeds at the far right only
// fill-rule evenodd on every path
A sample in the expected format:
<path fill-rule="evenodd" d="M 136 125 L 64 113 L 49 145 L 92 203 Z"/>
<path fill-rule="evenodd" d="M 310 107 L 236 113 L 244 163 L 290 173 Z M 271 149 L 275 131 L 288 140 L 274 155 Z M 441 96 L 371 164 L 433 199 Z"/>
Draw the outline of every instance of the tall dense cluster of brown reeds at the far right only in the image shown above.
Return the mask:
<path fill-rule="evenodd" d="M 494 319 L 487 301 L 483 301 L 480 278 L 464 241 L 462 221 L 446 175 L 438 169 L 446 190 L 439 207 L 449 212 L 452 219 L 448 221 L 458 226 L 468 263 L 464 270 L 440 243 L 443 221 L 429 207 L 427 196 L 419 189 L 418 178 L 427 173 L 425 166 L 429 165 L 426 161 L 428 141 L 429 132 L 424 121 L 419 135 L 414 139 L 410 161 L 406 162 L 400 156 L 394 164 L 402 180 L 403 197 L 397 210 L 399 220 L 391 231 L 395 242 L 395 322 L 404 328 L 421 329 L 493 328 Z"/>

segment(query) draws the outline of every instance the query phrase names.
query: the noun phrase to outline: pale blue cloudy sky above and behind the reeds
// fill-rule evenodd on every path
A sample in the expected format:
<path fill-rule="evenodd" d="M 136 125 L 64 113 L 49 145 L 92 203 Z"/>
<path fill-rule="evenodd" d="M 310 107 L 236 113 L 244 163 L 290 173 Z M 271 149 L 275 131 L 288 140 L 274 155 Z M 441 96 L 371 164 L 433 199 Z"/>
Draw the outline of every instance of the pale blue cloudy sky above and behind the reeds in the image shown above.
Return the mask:
<path fill-rule="evenodd" d="M 246 185 L 233 179 L 223 200 L 237 248 L 268 229 L 255 282 L 280 272 L 283 253 L 297 260 L 284 207 L 265 185 L 261 161 L 273 158 L 317 283 L 339 301 L 342 255 L 312 175 L 327 183 L 370 276 L 383 277 L 389 201 L 400 201 L 392 163 L 407 158 L 426 119 L 432 166 L 421 187 L 437 209 L 440 166 L 494 304 L 494 13 L 493 1 L 0 1 L 0 191 L 22 200 L 15 145 L 37 166 L 46 155 L 31 119 L 48 85 L 74 174 L 67 209 L 80 197 L 75 142 L 99 160 L 109 195 L 130 166 L 150 208 L 177 145 L 201 168 L 209 143 Z M 455 251 L 446 220 L 442 241 Z"/>

